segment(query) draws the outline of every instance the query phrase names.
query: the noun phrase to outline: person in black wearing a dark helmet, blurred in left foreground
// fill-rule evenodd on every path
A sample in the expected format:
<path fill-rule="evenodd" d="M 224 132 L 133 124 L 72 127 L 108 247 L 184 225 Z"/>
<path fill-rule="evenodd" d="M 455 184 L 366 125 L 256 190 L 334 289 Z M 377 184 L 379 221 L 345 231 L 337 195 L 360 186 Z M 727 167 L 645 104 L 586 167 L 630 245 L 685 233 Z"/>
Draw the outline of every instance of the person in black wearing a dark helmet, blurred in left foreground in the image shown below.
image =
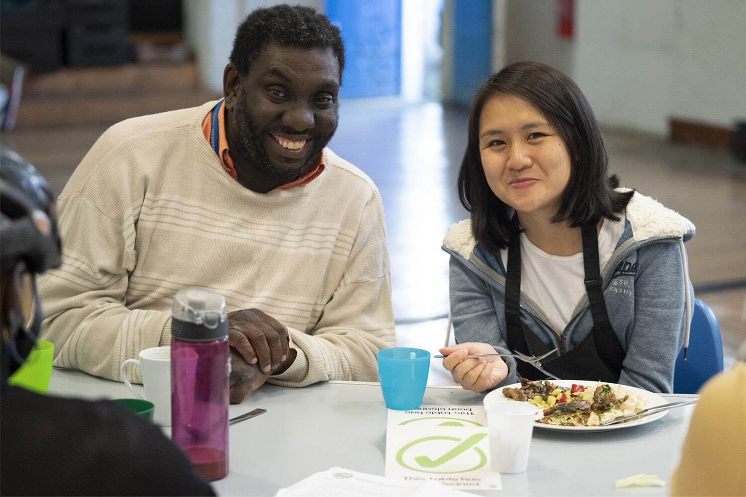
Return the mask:
<path fill-rule="evenodd" d="M 160 428 L 114 402 L 44 396 L 7 379 L 37 340 L 22 312 L 23 281 L 60 264 L 60 238 L 46 181 L 0 149 L 0 493 L 8 496 L 214 496 Z M 36 297 L 36 295 L 34 295 Z M 26 313 L 28 314 L 28 313 Z"/>

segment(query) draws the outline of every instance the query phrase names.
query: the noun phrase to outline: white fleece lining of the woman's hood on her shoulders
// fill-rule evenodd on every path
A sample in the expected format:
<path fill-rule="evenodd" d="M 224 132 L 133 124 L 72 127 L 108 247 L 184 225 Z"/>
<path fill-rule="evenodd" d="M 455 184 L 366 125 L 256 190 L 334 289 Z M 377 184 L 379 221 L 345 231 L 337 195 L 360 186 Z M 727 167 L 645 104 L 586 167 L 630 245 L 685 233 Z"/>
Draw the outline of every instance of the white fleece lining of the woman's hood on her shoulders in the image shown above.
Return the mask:
<path fill-rule="evenodd" d="M 624 192 L 630 189 L 620 188 L 617 191 Z M 681 238 L 682 241 L 689 241 L 689 238 L 695 235 L 695 225 L 692 221 L 637 191 L 627 203 L 626 215 L 632 228 L 633 241 L 643 241 L 659 236 L 674 236 Z M 471 219 L 464 219 L 451 225 L 443 240 L 445 248 L 459 253 L 465 259 L 471 256 L 476 244 L 477 241 L 471 233 Z"/>

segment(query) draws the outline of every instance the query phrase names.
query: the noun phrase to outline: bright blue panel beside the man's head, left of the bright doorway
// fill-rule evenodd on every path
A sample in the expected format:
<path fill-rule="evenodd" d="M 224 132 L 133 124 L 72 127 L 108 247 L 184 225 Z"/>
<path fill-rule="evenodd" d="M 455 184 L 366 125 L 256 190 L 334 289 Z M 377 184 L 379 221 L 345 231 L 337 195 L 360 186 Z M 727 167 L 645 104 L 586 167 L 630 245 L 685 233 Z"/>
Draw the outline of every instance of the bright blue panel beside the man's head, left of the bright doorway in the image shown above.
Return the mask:
<path fill-rule="evenodd" d="M 342 30 L 345 72 L 341 98 L 401 93 L 401 0 L 326 0 Z"/>

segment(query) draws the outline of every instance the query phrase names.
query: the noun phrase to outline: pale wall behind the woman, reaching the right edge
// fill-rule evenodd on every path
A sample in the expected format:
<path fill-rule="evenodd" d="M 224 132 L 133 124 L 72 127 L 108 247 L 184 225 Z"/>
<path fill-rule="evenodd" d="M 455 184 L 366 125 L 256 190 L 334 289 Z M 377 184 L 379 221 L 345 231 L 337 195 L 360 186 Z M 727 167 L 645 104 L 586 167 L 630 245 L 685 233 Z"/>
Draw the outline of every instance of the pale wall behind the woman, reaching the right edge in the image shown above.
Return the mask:
<path fill-rule="evenodd" d="M 572 40 L 557 37 L 556 9 L 509 0 L 507 61 L 567 73 L 601 124 L 665 135 L 674 116 L 746 117 L 746 1 L 577 0 Z"/>

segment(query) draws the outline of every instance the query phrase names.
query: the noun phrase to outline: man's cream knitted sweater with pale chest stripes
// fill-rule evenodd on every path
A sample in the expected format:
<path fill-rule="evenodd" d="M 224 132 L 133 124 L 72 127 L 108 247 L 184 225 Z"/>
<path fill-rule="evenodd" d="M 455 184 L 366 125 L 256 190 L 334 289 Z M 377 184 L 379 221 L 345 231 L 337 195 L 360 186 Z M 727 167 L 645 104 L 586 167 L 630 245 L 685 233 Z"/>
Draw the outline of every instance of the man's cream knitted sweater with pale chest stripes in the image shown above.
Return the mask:
<path fill-rule="evenodd" d="M 202 134 L 215 104 L 116 124 L 75 169 L 57 200 L 63 264 L 40 279 L 54 365 L 121 380 L 122 361 L 171 343 L 173 295 L 195 285 L 289 328 L 298 358 L 270 382 L 376 381 L 395 344 L 377 189 L 328 149 L 306 186 L 245 189 Z"/>

